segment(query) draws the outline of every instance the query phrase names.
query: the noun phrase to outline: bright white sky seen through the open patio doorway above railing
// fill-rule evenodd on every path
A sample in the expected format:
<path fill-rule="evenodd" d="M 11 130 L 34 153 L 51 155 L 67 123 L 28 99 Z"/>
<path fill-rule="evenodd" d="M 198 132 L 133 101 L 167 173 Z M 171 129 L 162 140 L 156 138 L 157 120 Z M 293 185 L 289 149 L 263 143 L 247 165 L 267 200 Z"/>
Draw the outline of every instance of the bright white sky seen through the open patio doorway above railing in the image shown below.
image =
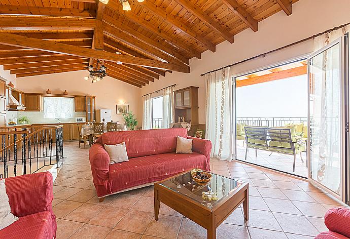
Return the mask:
<path fill-rule="evenodd" d="M 307 117 L 305 75 L 236 89 L 236 117 Z"/>

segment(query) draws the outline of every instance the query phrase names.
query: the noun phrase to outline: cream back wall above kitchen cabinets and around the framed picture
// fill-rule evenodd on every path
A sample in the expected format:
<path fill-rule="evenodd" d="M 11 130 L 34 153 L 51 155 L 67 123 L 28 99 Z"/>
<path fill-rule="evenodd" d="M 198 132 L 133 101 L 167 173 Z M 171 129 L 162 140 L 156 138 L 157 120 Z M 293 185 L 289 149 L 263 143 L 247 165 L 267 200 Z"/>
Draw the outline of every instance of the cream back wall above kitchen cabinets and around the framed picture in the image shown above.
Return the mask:
<path fill-rule="evenodd" d="M 73 71 L 48 75 L 28 76 L 17 78 L 17 88 L 24 92 L 45 93 L 47 89 L 52 94 L 63 94 L 66 90 L 72 95 L 96 96 L 96 109 L 112 109 L 114 122 L 124 122 L 122 115 L 116 114 L 116 104 L 128 104 L 142 125 L 141 89 L 112 77 L 105 77 L 102 81 L 92 84 L 85 81 L 88 72 Z"/>

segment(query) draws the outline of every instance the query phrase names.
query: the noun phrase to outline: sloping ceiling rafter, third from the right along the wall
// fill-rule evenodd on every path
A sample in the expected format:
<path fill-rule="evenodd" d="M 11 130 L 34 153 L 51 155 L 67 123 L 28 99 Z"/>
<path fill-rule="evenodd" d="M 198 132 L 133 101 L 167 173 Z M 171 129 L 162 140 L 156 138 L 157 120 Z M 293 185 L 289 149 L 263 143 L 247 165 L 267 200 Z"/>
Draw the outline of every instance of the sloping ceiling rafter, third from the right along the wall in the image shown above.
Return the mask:
<path fill-rule="evenodd" d="M 206 25 L 213 28 L 217 32 L 219 32 L 227 41 L 233 43 L 233 35 L 228 32 L 222 25 L 220 25 L 213 18 L 209 17 L 206 13 L 204 13 L 201 9 L 197 8 L 188 0 L 176 0 L 177 3 L 182 5 L 185 9 L 187 9 L 194 16 L 203 21 Z"/>

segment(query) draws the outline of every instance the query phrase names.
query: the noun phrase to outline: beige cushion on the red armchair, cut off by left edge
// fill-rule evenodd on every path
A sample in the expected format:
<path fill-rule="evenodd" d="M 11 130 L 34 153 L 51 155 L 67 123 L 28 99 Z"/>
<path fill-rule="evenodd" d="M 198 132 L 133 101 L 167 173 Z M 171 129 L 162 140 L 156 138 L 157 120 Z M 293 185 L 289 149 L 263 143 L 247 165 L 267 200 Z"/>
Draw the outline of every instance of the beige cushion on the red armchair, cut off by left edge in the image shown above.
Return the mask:
<path fill-rule="evenodd" d="M 0 180 L 0 230 L 11 225 L 18 220 L 11 213 L 11 208 L 9 204 L 9 197 L 6 194 L 5 179 Z"/>

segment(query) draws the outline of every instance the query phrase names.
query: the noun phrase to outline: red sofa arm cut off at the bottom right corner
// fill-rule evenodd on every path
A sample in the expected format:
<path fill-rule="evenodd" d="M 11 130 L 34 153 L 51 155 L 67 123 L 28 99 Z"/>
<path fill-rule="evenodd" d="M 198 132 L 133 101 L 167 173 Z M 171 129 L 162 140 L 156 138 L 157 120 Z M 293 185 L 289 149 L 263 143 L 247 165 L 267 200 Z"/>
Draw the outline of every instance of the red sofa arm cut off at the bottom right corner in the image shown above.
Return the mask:
<path fill-rule="evenodd" d="M 348 239 L 350 238 L 350 210 L 332 208 L 325 215 L 325 225 L 329 231 L 321 232 L 317 239 Z"/>

